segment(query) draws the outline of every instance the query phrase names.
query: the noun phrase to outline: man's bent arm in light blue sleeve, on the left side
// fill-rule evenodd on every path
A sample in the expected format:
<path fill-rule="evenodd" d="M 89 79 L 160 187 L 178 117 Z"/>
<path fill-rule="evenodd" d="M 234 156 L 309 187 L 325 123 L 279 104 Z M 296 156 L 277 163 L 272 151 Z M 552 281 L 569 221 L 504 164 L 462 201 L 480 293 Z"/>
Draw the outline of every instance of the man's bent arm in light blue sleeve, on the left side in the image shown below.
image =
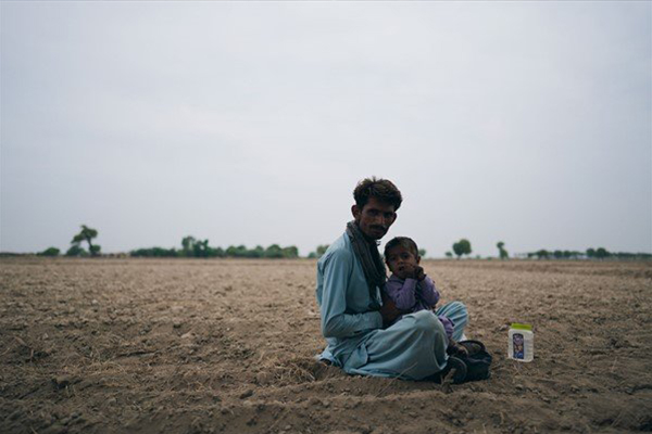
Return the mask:
<path fill-rule="evenodd" d="M 346 314 L 347 288 L 353 271 L 353 258 L 346 251 L 335 251 L 324 263 L 322 293 L 322 334 L 324 337 L 350 337 L 365 330 L 380 329 L 378 311 Z"/>

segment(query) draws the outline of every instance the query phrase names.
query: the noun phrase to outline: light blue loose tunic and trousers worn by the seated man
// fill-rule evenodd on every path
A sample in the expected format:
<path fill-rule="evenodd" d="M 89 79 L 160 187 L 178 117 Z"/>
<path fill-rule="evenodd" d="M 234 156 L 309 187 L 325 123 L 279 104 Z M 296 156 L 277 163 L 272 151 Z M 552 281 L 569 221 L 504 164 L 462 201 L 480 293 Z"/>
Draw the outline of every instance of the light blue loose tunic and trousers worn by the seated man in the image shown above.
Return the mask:
<path fill-rule="evenodd" d="M 467 322 L 466 307 L 449 303 L 437 310 L 403 316 L 388 329 L 369 310 L 373 299 L 349 237 L 337 239 L 317 263 L 317 303 L 327 346 L 321 355 L 351 374 L 422 380 L 446 367 L 448 337 L 437 315 L 450 318 L 459 340 Z M 376 289 L 376 302 L 380 290 Z"/>

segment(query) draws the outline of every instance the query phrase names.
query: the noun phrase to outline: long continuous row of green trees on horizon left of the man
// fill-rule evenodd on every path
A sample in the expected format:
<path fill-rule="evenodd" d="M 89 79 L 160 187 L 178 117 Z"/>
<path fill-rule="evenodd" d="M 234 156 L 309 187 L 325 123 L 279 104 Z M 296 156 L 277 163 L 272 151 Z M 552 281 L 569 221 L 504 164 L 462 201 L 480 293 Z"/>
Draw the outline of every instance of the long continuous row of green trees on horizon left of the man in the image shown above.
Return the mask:
<path fill-rule="evenodd" d="M 226 248 L 212 247 L 209 240 L 198 240 L 188 235 L 181 240 L 181 248 L 149 247 L 129 252 L 134 257 L 239 257 L 239 258 L 297 258 L 299 250 L 293 246 L 281 247 L 272 244 L 268 247 L 256 245 L 247 248 L 244 245 L 230 245 Z"/>

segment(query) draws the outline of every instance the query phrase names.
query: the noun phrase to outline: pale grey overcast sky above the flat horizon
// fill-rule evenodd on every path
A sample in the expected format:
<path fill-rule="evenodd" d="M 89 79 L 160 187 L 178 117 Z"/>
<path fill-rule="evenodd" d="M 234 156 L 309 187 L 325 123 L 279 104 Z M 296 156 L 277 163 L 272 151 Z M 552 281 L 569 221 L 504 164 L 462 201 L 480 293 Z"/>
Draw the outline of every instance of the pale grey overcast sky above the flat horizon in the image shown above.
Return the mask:
<path fill-rule="evenodd" d="M 652 3 L 1 3 L 0 251 L 652 252 Z"/>

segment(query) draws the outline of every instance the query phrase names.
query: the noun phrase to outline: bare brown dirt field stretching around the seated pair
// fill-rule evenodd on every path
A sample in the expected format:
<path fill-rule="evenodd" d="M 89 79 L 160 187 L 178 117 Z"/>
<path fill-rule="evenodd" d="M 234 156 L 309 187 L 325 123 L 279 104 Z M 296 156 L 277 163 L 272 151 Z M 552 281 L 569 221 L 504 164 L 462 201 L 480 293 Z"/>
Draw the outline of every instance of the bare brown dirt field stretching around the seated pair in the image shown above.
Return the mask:
<path fill-rule="evenodd" d="M 348 376 L 314 260 L 0 259 L 1 433 L 652 431 L 652 263 L 434 260 L 487 381 Z M 535 361 L 506 359 L 510 322 Z"/>

